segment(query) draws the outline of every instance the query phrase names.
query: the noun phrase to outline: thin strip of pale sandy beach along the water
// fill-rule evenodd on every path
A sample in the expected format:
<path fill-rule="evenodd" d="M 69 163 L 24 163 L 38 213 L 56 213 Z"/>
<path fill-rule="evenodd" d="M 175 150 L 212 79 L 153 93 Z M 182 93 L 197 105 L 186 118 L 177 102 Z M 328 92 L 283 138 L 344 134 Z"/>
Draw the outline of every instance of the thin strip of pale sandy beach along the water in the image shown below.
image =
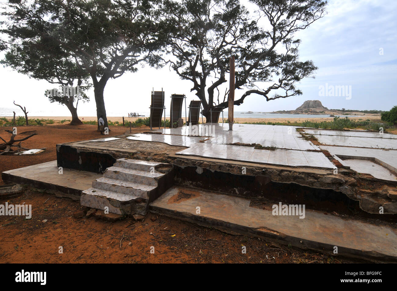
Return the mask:
<path fill-rule="evenodd" d="M 2 117 L 2 116 L 1 116 Z M 12 119 L 12 116 L 5 116 L 8 119 Z M 350 119 L 362 119 L 362 120 L 366 120 L 366 119 L 370 119 L 371 121 L 380 121 L 380 115 L 365 115 L 365 116 L 348 116 Z M 54 121 L 61 121 L 61 120 L 71 120 L 71 116 L 28 116 L 29 119 L 52 119 Z M 81 116 L 79 117 L 81 121 L 96 121 L 97 118 L 96 116 Z M 124 122 L 129 122 L 129 121 L 135 121 L 137 120 L 139 117 L 124 117 Z M 146 118 L 146 117 L 141 117 L 141 118 Z M 224 116 L 225 119 L 227 119 L 227 116 Z M 164 118 L 162 118 L 164 119 Z M 166 117 L 166 119 L 169 119 L 169 117 Z M 235 118 L 235 123 L 243 123 L 243 122 L 302 122 L 305 121 L 307 119 L 310 119 L 312 121 L 331 121 L 333 118 L 332 117 L 324 117 L 324 118 L 308 118 L 308 117 L 304 117 L 304 118 Z M 119 121 L 120 123 L 123 122 L 123 117 L 122 116 L 108 116 L 108 120 L 110 121 Z M 206 119 L 204 118 L 204 122 L 206 121 Z M 200 122 L 201 122 L 201 118 L 200 118 Z M 219 122 L 222 122 L 222 116 L 219 118 Z M 53 123 L 55 124 L 59 124 L 57 122 Z"/>

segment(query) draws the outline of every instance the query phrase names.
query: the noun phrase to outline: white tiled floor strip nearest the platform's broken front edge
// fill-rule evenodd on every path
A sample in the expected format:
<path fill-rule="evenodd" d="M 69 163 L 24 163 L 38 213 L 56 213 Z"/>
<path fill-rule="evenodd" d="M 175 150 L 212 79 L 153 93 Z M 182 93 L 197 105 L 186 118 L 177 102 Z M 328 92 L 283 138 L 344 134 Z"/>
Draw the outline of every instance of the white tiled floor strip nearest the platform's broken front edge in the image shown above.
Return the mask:
<path fill-rule="evenodd" d="M 257 162 L 261 164 L 306 166 L 326 169 L 335 168 L 322 152 L 307 152 L 302 150 L 259 150 L 250 146 L 197 143 L 176 154 Z"/>

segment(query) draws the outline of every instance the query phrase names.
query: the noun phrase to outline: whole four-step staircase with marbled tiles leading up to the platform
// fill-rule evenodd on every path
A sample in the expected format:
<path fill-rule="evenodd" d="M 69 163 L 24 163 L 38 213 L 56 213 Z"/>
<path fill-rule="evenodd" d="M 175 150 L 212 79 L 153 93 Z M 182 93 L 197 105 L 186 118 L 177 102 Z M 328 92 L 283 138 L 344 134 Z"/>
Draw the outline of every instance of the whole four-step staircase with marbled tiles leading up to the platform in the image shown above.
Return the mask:
<path fill-rule="evenodd" d="M 80 204 L 129 215 L 148 212 L 148 204 L 173 185 L 170 164 L 121 158 L 81 194 Z"/>

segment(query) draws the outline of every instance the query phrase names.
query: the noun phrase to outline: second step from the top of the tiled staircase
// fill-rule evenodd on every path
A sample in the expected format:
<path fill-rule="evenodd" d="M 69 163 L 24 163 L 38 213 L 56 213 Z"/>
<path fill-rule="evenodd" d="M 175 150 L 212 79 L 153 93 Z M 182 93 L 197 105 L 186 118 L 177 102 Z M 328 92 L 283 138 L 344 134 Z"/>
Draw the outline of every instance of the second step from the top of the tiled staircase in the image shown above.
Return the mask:
<path fill-rule="evenodd" d="M 103 176 L 106 178 L 157 186 L 158 178 L 164 176 L 164 174 L 113 166 L 107 168 Z"/>

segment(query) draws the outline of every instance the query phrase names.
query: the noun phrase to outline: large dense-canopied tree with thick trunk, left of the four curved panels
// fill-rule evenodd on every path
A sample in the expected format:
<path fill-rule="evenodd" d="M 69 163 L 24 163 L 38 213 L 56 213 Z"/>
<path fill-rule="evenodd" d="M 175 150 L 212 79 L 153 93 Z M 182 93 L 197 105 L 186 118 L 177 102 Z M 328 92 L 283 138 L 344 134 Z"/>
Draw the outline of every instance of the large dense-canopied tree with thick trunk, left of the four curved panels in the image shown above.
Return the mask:
<path fill-rule="evenodd" d="M 104 88 L 111 78 L 137 71 L 164 43 L 162 21 L 154 21 L 158 0 L 9 0 L 2 15 L 8 48 L 35 45 L 58 50 L 87 73 L 94 87 L 96 114 L 108 125 Z M 156 23 L 155 23 L 156 22 Z M 45 62 L 45 60 L 42 60 Z M 54 78 L 56 76 L 53 76 Z M 98 125 L 99 127 L 99 125 Z"/>

